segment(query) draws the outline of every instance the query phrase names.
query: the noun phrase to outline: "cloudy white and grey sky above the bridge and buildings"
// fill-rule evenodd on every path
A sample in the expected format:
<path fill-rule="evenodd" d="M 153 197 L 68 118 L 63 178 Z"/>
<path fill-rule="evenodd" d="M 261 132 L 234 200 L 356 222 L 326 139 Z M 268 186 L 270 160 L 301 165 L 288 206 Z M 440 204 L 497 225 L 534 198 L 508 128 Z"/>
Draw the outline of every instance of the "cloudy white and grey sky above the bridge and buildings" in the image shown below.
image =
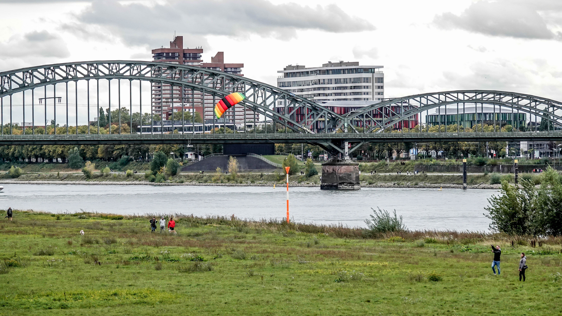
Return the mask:
<path fill-rule="evenodd" d="M 560 0 L 0 0 L 0 71 L 151 60 L 174 31 L 275 84 L 288 64 L 382 65 L 386 97 L 497 89 L 562 100 Z"/>

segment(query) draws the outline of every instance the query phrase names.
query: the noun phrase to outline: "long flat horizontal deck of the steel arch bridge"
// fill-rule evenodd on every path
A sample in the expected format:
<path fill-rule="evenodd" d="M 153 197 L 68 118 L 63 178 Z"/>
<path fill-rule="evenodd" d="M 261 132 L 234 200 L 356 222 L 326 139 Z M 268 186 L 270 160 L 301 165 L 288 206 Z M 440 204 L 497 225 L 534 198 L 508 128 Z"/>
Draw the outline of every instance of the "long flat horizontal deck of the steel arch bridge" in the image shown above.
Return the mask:
<path fill-rule="evenodd" d="M 2 135 L 0 145 L 152 145 L 223 143 L 560 141 L 562 132 L 519 133 L 273 133 Z"/>

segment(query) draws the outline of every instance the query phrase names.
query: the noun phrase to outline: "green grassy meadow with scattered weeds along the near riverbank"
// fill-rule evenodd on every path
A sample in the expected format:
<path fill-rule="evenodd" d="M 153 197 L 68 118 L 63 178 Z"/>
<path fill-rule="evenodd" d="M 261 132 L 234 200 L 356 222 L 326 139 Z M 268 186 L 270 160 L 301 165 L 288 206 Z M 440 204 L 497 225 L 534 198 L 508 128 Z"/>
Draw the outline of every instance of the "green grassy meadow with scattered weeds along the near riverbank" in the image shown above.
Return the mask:
<path fill-rule="evenodd" d="M 478 233 L 176 222 L 174 235 L 144 217 L 16 211 L 0 224 L 0 315 L 562 314 L 560 239 L 530 248 Z"/>

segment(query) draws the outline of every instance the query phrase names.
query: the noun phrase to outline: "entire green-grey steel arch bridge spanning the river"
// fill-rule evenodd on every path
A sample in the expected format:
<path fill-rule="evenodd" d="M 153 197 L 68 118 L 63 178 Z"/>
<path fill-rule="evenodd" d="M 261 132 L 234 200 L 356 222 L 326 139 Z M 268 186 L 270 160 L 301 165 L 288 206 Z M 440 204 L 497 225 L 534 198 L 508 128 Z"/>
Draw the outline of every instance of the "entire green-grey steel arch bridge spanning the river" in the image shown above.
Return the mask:
<path fill-rule="evenodd" d="M 107 83 L 106 86 L 102 84 L 101 87 L 102 98 L 104 98 L 106 102 L 102 101 L 102 103 L 100 103 L 99 89 L 100 82 L 103 83 L 103 80 L 106 80 Z M 95 93 L 93 91 L 90 93 L 90 82 L 96 83 Z M 115 93 L 114 88 L 113 97 L 111 94 L 112 82 L 118 82 L 117 93 Z M 125 85 L 122 84 L 123 82 L 125 82 Z M 126 82 L 129 83 L 128 89 L 126 89 Z M 133 82 L 135 82 L 135 86 Z M 362 143 L 366 142 L 397 142 L 407 141 L 408 139 L 415 139 L 416 141 L 422 141 L 423 139 L 427 139 L 427 141 L 436 141 L 436 139 L 441 139 L 441 141 L 451 141 L 451 139 L 464 139 L 465 141 L 474 141 L 475 139 L 486 139 L 487 141 L 490 139 L 562 139 L 559 132 L 552 131 L 555 127 L 562 127 L 562 103 L 529 94 L 485 90 L 424 93 L 383 100 L 382 102 L 376 102 L 372 105 L 347 112 L 346 114 L 337 114 L 334 110 L 330 109 L 328 105 L 319 105 L 283 89 L 257 82 L 243 76 L 191 65 L 171 64 L 168 62 L 115 60 L 68 62 L 28 67 L 0 73 L 0 123 L 2 126 L 10 123 L 10 132 L 4 131 L 4 128 L 1 129 L 0 145 L 15 145 L 16 143 L 20 145 L 25 143 L 69 143 L 68 139 L 70 138 L 67 135 L 59 135 L 60 131 L 58 129 L 56 130 L 56 135 L 35 133 L 34 127 L 36 125 L 43 125 L 36 124 L 36 122 L 43 121 L 43 119 L 47 120 L 48 116 L 54 118 L 54 125 L 57 125 L 57 118 L 59 118 L 58 121 L 61 122 L 60 118 L 64 116 L 65 119 L 62 119 L 62 122 L 65 123 L 66 134 L 70 134 L 69 127 L 73 125 L 76 127 L 74 133 L 79 134 L 79 121 L 88 122 L 87 132 L 82 131 L 80 133 L 98 134 L 97 136 L 76 136 L 72 138 L 70 143 L 149 142 L 148 138 L 145 137 L 116 137 L 114 135 L 99 134 L 99 126 L 97 131 L 95 128 L 90 129 L 92 110 L 94 110 L 94 114 L 97 116 L 100 109 L 108 107 L 111 115 L 112 106 L 114 106 L 114 109 L 117 107 L 121 109 L 121 107 L 129 106 L 130 114 L 132 114 L 133 87 L 136 87 L 137 82 L 138 104 L 135 104 L 135 107 L 141 115 L 148 112 L 142 110 L 143 82 L 148 82 L 151 86 L 151 102 L 147 103 L 145 101 L 145 106 L 149 107 L 151 114 L 153 114 L 153 84 L 167 84 L 171 87 L 181 87 L 182 97 L 178 101 L 179 104 L 176 103 L 176 106 L 181 105 L 182 110 L 189 110 L 191 107 L 192 111 L 195 111 L 194 98 L 191 98 L 191 105 L 189 104 L 189 100 L 185 102 L 185 91 L 191 91 L 192 93 L 193 91 L 197 91 L 201 93 L 203 96 L 201 99 L 203 113 L 205 112 L 205 106 L 212 109 L 215 105 L 215 102 L 206 105 L 205 95 L 210 95 L 215 99 L 215 97 L 222 98 L 232 92 L 242 92 L 246 96 L 246 100 L 239 104 L 253 111 L 253 119 L 255 120 L 257 115 L 259 119 L 265 119 L 265 124 L 267 124 L 267 120 L 271 120 L 275 123 L 276 128 L 274 128 L 274 133 L 266 133 L 265 136 L 255 135 L 254 137 L 241 137 L 235 141 L 238 143 L 283 143 L 298 140 L 298 142 L 309 142 L 314 145 L 320 145 L 333 153 L 343 153 L 345 151 L 343 147 L 346 142 L 351 142 L 355 145 L 351 147 L 350 151 L 353 151 L 362 145 Z M 72 91 L 73 85 L 74 91 Z M 79 87 L 80 85 L 81 87 Z M 125 87 L 123 88 L 125 93 L 121 92 L 122 86 Z M 47 87 L 49 87 L 49 89 L 47 89 Z M 39 89 L 39 92 L 35 92 L 38 88 L 43 89 Z M 43 92 L 41 92 L 41 90 Z M 62 93 L 62 95 L 59 96 L 57 91 L 58 93 Z M 126 92 L 128 92 L 128 96 Z M 137 92 L 135 91 L 135 93 Z M 29 94 L 31 94 L 31 96 Z M 37 94 L 37 96 L 35 94 Z M 117 94 L 117 98 L 115 98 L 115 94 Z M 125 101 L 127 101 L 128 98 L 129 102 L 122 102 L 123 94 L 125 94 Z M 174 94 L 171 94 L 171 96 L 171 106 L 174 107 Z M 92 101 L 92 97 L 94 97 L 95 102 Z M 58 105 L 56 102 L 57 100 Z M 62 100 L 64 100 L 64 102 L 62 102 Z M 37 104 L 37 101 L 39 101 L 40 104 Z M 44 101 L 44 103 L 42 101 Z M 19 104 L 16 104 L 18 102 Z M 52 102 L 52 104 L 47 105 L 48 102 Z M 87 113 L 84 113 L 83 109 L 85 104 L 87 104 Z M 467 105 L 469 107 L 473 106 L 474 111 L 466 112 L 465 109 Z M 488 106 L 486 112 L 484 112 L 484 105 Z M 493 107 L 492 112 L 489 111 L 490 106 Z M 63 107 L 62 110 L 61 107 Z M 478 112 L 478 107 L 480 112 Z M 429 110 L 434 110 L 439 114 L 437 115 L 438 121 L 427 121 L 429 118 Z M 49 111 L 50 113 L 48 114 Z M 9 114 L 6 114 L 6 112 Z M 424 112 L 426 115 L 425 125 L 422 124 L 421 120 L 421 116 Z M 236 120 L 235 111 L 233 110 L 232 113 L 233 115 L 230 117 L 232 118 L 234 116 Z M 506 123 L 502 115 L 506 113 L 512 115 L 511 123 L 515 123 L 515 132 L 501 133 L 501 135 L 498 133 L 497 137 L 493 136 L 493 134 L 490 135 L 490 133 L 484 135 L 483 123 L 489 125 L 493 124 L 494 132 L 500 132 L 502 123 Z M 516 114 L 516 120 L 513 119 L 514 113 Z M 129 123 L 131 127 L 133 125 L 133 115 L 130 116 L 129 122 L 121 122 L 120 114 L 121 111 L 119 111 L 119 128 L 117 128 L 117 133 L 119 134 L 121 134 L 122 123 Z M 443 115 L 441 116 L 441 114 Z M 525 116 L 524 119 L 519 119 L 522 118 L 519 114 L 528 114 L 528 118 Z M 71 119 L 72 115 L 74 115 L 74 120 Z M 467 115 L 473 116 L 467 119 Z M 533 118 L 534 125 L 532 121 Z M 543 136 L 537 135 L 537 120 L 539 119 L 548 122 L 548 124 L 546 124 L 547 131 L 550 132 Z M 22 121 L 24 128 L 30 125 L 32 135 L 26 135 L 25 137 L 12 135 L 11 127 L 14 125 L 15 120 L 19 120 L 18 123 Z M 464 128 L 463 130 L 457 128 L 454 130 L 454 132 L 456 132 L 454 137 L 447 135 L 439 136 L 441 132 L 453 132 L 452 130 L 447 130 L 450 125 L 468 127 L 466 123 L 469 120 L 481 124 L 480 128 L 482 128 L 482 130 L 478 130 L 477 126 L 477 130 L 472 130 L 472 133 L 464 133 Z M 114 122 L 111 120 L 111 117 L 110 121 Z M 155 126 L 157 125 L 154 124 L 152 119 L 150 121 L 150 134 L 163 133 L 154 132 Z M 244 122 L 246 121 L 246 111 L 244 111 Z M 380 135 L 388 134 L 387 132 L 404 132 L 402 127 L 405 126 L 405 121 L 418 121 L 420 127 L 417 132 L 420 133 L 416 134 L 415 137 L 390 137 L 390 135 Z M 499 127 L 496 129 L 497 121 L 499 122 Z M 160 123 L 163 124 L 162 121 Z M 444 129 L 439 126 L 439 133 L 428 133 L 430 131 L 429 123 L 433 125 L 443 125 Z M 182 120 L 182 133 L 187 133 L 185 132 L 184 124 L 185 121 Z M 188 122 L 187 124 L 192 124 L 192 131 L 195 130 L 194 122 Z M 47 123 L 44 125 L 46 126 Z M 220 127 L 220 124 L 217 125 Z M 291 130 L 293 133 L 301 135 L 299 137 L 294 137 L 289 136 L 288 134 L 290 133 L 275 133 L 279 126 L 284 127 L 285 132 Z M 213 123 L 213 128 L 214 127 L 215 123 Z M 203 130 L 206 130 L 205 120 L 203 120 Z M 533 132 L 533 135 L 525 136 L 524 133 L 526 132 L 522 132 L 521 130 Z M 24 131 L 25 134 L 28 134 L 28 132 L 29 128 Z M 236 130 L 234 130 L 234 132 L 237 134 Z M 134 134 L 136 131 L 133 131 L 133 128 L 131 128 L 129 133 Z M 223 138 L 217 138 L 209 134 L 195 137 L 196 135 L 194 133 L 195 132 L 193 132 L 192 136 L 184 134 L 179 137 L 164 138 L 166 138 L 167 143 L 187 143 L 191 141 L 199 143 L 219 143 L 221 141 L 233 141 L 233 139 L 230 138 L 236 137 L 225 136 Z M 108 130 L 108 134 L 112 134 L 111 128 Z M 311 134 L 316 135 L 312 136 Z M 357 135 L 354 137 L 352 136 L 353 134 L 361 134 L 361 136 Z M 375 134 L 378 135 L 375 136 Z M 430 134 L 434 134 L 434 136 Z M 308 137 L 306 135 L 308 135 Z M 481 135 L 482 138 L 479 138 L 479 135 Z M 512 137 L 509 135 L 512 135 Z M 155 136 L 151 138 L 152 141 L 150 142 L 157 142 L 159 141 L 158 139 L 164 140 L 164 138 Z M 195 138 L 197 138 L 197 140 Z M 205 141 L 206 138 L 208 138 L 207 141 Z"/>

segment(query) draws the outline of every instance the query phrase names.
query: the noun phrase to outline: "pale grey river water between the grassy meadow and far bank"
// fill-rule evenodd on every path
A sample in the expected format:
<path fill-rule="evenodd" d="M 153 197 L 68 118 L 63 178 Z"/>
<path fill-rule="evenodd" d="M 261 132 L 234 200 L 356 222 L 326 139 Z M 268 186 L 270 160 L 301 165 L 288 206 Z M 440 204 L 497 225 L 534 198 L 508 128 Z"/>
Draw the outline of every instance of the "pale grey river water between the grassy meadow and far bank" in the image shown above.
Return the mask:
<path fill-rule="evenodd" d="M 33 209 L 53 213 L 80 210 L 114 214 L 235 214 L 246 219 L 282 219 L 284 186 L 131 186 L 80 184 L 3 184 L 0 209 Z M 403 216 L 409 229 L 487 231 L 484 206 L 496 189 L 361 188 L 320 191 L 289 188 L 291 220 L 365 227 L 371 207 Z"/>

